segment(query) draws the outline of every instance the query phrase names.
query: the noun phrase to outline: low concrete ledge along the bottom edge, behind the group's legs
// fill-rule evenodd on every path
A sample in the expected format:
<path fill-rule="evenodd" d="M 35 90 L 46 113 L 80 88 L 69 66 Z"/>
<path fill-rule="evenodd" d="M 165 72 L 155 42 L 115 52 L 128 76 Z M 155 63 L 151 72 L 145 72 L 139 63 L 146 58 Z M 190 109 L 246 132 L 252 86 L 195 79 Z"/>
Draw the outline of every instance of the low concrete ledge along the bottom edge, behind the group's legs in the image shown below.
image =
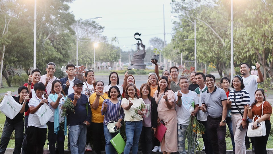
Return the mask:
<path fill-rule="evenodd" d="M 12 154 L 12 153 L 13 153 L 13 148 L 7 148 L 5 154 Z M 102 151 L 101 153 L 106 154 L 105 151 Z M 160 154 L 158 152 L 153 152 L 153 153 Z M 246 153 L 247 154 L 254 154 L 254 152 L 252 150 L 247 150 Z M 44 149 L 44 154 L 50 154 L 49 150 Z M 65 150 L 64 154 L 71 154 L 71 152 L 69 150 Z M 95 151 L 86 151 L 85 154 L 96 154 L 96 152 Z M 138 151 L 138 154 L 142 154 L 142 151 Z M 201 151 L 200 154 L 205 154 L 205 151 Z M 227 154 L 233 154 L 233 151 L 227 150 Z M 267 149 L 267 154 L 273 154 L 273 149 Z"/>

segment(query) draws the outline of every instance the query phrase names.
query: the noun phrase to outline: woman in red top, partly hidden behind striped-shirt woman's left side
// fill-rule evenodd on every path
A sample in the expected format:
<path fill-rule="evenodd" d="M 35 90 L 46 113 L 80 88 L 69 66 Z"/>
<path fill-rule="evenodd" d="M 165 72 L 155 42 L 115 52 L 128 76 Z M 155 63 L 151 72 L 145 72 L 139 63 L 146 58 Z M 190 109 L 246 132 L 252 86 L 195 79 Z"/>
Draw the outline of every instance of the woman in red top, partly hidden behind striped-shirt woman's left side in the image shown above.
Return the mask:
<path fill-rule="evenodd" d="M 230 80 L 228 77 L 223 77 L 220 80 L 222 89 L 226 92 L 226 95 L 228 97 L 229 94 L 229 83 Z M 230 137 L 231 137 L 231 143 L 232 143 L 232 149 L 233 149 L 233 153 L 235 153 L 235 143 L 234 143 L 234 136 L 233 136 L 233 130 L 232 130 L 232 121 L 231 121 L 231 110 L 228 109 L 228 114 L 226 116 L 226 123 L 228 125 L 228 129 L 229 129 L 229 133 L 230 133 Z"/>

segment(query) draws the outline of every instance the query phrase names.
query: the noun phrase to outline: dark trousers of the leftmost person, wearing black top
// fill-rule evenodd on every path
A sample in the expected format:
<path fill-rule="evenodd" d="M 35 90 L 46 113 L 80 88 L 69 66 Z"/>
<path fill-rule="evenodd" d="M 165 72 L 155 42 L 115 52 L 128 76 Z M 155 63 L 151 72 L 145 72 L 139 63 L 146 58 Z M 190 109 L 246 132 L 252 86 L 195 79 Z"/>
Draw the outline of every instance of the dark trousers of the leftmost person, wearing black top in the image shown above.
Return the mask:
<path fill-rule="evenodd" d="M 10 124 L 5 121 L 3 133 L 0 141 L 0 153 L 5 153 L 11 134 L 15 130 L 15 147 L 13 153 L 21 153 L 22 142 L 24 139 L 24 121 L 23 119 L 15 124 Z"/>

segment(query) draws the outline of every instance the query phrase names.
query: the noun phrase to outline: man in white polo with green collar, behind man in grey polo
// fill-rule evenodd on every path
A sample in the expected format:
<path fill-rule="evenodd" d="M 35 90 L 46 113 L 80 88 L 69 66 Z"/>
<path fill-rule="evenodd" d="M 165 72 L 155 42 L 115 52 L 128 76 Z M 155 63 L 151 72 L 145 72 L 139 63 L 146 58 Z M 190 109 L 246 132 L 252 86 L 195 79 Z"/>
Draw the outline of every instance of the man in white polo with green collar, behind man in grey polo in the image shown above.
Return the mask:
<path fill-rule="evenodd" d="M 200 111 L 201 106 L 202 106 L 202 104 L 201 104 L 201 95 L 204 92 L 206 92 L 206 90 L 208 90 L 208 87 L 205 85 L 204 78 L 205 78 L 204 73 L 198 72 L 198 73 L 195 74 L 195 80 L 196 80 L 196 83 L 199 86 L 199 87 L 197 87 L 195 89 L 195 92 L 197 93 L 197 96 L 198 96 L 198 102 L 199 102 L 199 106 L 198 106 L 199 112 L 198 112 L 198 115 L 197 115 L 197 120 L 200 123 L 202 123 L 205 126 L 205 128 L 207 129 L 207 116 L 208 116 L 208 113 Z M 212 154 L 211 142 L 208 139 L 207 131 L 205 131 L 204 134 L 202 134 L 202 138 L 203 138 L 203 141 L 204 141 L 204 147 L 205 147 L 206 154 Z M 203 148 L 203 151 L 204 151 L 204 148 Z"/>

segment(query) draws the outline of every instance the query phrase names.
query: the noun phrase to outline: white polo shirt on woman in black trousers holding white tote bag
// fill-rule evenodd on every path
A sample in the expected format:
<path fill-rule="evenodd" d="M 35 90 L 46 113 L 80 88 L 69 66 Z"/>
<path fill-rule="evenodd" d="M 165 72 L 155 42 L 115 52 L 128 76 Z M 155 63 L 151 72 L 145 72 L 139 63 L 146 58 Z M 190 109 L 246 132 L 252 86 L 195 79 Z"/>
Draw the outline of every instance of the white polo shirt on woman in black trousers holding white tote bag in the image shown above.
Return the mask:
<path fill-rule="evenodd" d="M 44 95 L 43 95 L 44 96 Z M 44 99 L 44 97 L 43 97 Z M 29 107 L 36 107 L 40 104 L 42 100 L 40 100 L 37 96 L 30 98 L 29 102 L 28 102 L 28 106 Z M 47 104 L 44 104 L 47 105 Z M 45 125 L 41 125 L 40 121 L 38 119 L 38 116 L 34 113 L 34 114 L 29 114 L 28 116 L 28 127 L 29 126 L 34 126 L 34 127 L 38 127 L 38 128 L 46 128 L 46 124 Z"/>

